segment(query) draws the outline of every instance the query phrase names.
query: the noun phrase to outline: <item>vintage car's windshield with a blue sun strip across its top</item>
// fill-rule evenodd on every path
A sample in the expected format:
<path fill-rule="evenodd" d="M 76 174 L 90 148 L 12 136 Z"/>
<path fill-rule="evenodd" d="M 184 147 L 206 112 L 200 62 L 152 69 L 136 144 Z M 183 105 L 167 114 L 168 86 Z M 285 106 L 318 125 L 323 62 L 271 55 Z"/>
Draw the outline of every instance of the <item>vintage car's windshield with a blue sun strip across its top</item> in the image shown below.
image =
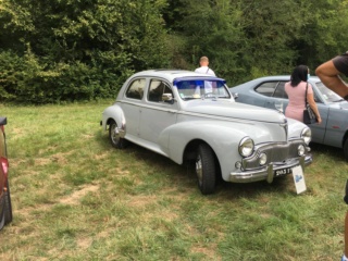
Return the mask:
<path fill-rule="evenodd" d="M 222 79 L 176 79 L 174 85 L 177 87 L 179 97 L 183 100 L 225 98 L 231 95 Z"/>

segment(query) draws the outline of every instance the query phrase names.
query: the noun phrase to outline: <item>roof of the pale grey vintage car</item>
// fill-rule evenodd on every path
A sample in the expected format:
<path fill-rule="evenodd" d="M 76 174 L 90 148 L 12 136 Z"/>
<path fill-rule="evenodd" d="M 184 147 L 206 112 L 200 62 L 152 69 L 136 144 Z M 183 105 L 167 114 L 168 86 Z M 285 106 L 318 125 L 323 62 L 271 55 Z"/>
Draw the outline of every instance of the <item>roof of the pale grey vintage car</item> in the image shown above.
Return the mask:
<path fill-rule="evenodd" d="M 138 72 L 133 75 L 133 77 L 139 77 L 139 76 L 162 77 L 162 78 L 166 78 L 170 82 L 173 82 L 174 79 L 181 78 L 181 77 L 200 77 L 200 78 L 207 77 L 207 78 L 215 78 L 215 79 L 217 78 L 209 74 L 201 74 L 201 73 L 195 73 L 188 70 L 176 70 L 176 69 L 147 70 L 147 71 Z"/>

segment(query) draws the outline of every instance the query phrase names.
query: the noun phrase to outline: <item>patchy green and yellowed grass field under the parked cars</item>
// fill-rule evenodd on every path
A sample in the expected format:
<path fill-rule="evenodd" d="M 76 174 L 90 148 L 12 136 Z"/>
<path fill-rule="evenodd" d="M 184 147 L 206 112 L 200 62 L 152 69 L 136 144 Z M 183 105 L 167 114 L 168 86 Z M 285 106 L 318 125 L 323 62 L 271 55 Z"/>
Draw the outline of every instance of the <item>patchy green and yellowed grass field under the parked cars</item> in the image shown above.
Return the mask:
<path fill-rule="evenodd" d="M 0 105 L 13 222 L 0 260 L 339 260 L 348 163 L 315 145 L 297 195 L 291 176 L 221 183 L 202 196 L 186 166 L 99 125 L 112 101 Z"/>

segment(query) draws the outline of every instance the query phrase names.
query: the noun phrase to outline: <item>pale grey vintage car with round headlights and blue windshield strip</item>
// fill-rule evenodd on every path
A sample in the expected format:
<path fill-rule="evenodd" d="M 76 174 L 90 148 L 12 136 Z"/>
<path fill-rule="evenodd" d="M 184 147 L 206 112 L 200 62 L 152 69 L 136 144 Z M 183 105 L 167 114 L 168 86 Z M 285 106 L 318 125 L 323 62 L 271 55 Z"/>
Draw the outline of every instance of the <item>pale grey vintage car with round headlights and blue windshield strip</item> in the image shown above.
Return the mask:
<path fill-rule="evenodd" d="M 190 71 L 134 74 L 100 125 L 115 148 L 132 141 L 177 164 L 195 161 L 204 195 L 214 192 L 217 175 L 272 183 L 312 162 L 309 127 L 278 111 L 237 103 L 224 79 Z"/>

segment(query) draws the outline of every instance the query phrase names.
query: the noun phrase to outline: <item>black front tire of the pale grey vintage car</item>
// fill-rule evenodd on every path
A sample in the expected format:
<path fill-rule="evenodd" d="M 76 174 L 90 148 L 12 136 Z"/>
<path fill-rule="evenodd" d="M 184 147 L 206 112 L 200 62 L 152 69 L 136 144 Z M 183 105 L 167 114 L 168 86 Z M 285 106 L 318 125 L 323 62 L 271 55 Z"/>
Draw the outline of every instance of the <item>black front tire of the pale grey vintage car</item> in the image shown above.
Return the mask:
<path fill-rule="evenodd" d="M 216 167 L 212 149 L 201 144 L 197 149 L 196 174 L 198 187 L 203 195 L 213 194 L 216 186 Z"/>

